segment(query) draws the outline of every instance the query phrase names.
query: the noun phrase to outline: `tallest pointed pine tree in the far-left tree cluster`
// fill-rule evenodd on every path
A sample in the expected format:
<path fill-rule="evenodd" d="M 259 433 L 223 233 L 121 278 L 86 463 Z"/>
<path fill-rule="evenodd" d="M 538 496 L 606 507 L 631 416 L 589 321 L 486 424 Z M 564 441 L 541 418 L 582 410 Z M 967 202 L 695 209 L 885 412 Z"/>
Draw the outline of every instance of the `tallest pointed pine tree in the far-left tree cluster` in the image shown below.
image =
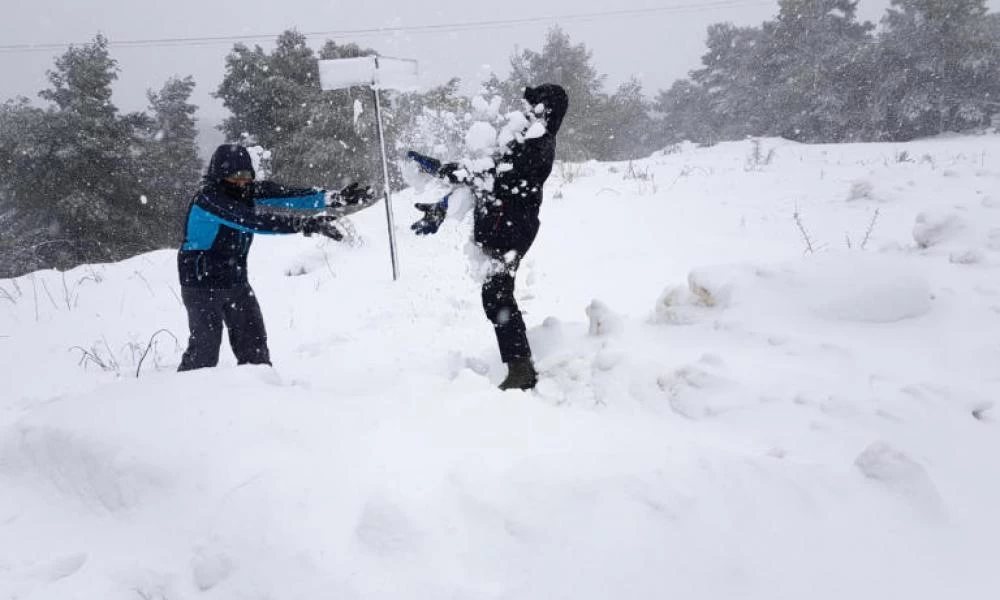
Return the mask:
<path fill-rule="evenodd" d="M 48 73 L 51 88 L 39 96 L 46 113 L 36 168 L 45 173 L 20 203 L 25 225 L 45 230 L 41 263 L 70 266 L 114 260 L 148 248 L 146 219 L 135 172 L 134 127 L 141 115 L 121 117 L 111 102 L 117 62 L 101 35 L 71 46 Z"/>

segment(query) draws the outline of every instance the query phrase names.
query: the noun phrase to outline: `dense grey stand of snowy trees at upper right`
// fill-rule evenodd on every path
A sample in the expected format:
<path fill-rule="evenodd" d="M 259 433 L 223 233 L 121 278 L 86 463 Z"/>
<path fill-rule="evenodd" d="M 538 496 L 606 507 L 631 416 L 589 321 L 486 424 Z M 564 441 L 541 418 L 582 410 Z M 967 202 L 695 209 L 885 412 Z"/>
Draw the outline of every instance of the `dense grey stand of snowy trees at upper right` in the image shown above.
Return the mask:
<path fill-rule="evenodd" d="M 1000 111 L 1000 15 L 986 0 L 892 0 L 877 33 L 857 0 L 778 4 L 759 27 L 709 28 L 702 67 L 653 104 L 664 138 L 902 141 Z"/>

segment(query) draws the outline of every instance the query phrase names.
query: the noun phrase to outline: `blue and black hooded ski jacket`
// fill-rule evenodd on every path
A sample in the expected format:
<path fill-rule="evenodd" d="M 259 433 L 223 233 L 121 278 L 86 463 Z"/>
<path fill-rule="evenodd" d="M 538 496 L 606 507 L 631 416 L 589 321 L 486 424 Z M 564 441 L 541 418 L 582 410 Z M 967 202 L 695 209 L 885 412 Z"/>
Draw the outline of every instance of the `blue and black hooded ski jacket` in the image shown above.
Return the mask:
<path fill-rule="evenodd" d="M 241 188 L 224 181 L 240 171 L 253 174 L 246 148 L 220 146 L 187 212 L 184 243 L 177 253 L 181 286 L 231 289 L 247 285 L 247 253 L 254 234 L 301 230 L 300 216 L 258 207 L 320 210 L 325 206 L 325 192 L 315 188 L 290 188 L 271 181 Z"/>

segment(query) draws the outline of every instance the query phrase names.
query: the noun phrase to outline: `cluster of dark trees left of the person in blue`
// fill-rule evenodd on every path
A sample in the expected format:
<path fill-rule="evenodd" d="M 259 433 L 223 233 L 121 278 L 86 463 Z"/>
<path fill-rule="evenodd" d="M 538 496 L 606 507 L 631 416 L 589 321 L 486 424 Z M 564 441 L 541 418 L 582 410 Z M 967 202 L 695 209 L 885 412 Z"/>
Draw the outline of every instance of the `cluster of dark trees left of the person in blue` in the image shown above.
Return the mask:
<path fill-rule="evenodd" d="M 0 276 L 117 260 L 176 243 L 196 181 L 190 77 L 149 92 L 149 110 L 111 102 L 108 43 L 73 47 L 39 96 L 0 105 Z"/>

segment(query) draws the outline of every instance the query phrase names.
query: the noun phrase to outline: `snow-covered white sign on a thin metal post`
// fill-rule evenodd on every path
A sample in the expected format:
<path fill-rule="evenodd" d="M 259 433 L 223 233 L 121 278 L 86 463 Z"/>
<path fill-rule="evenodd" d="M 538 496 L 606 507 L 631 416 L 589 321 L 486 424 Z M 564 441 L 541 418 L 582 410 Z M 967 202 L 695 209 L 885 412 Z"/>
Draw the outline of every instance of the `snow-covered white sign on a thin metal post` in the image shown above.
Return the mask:
<path fill-rule="evenodd" d="M 386 56 L 360 56 L 319 61 L 319 83 L 324 90 L 342 90 L 365 86 L 375 97 L 375 122 L 378 124 L 379 145 L 382 149 L 382 176 L 385 185 L 385 217 L 389 226 L 389 256 L 392 259 L 392 278 L 399 279 L 399 261 L 396 257 L 396 228 L 392 215 L 392 197 L 389 194 L 389 161 L 385 155 L 385 134 L 382 127 L 382 100 L 379 90 L 412 90 L 418 87 L 417 61 Z"/>

